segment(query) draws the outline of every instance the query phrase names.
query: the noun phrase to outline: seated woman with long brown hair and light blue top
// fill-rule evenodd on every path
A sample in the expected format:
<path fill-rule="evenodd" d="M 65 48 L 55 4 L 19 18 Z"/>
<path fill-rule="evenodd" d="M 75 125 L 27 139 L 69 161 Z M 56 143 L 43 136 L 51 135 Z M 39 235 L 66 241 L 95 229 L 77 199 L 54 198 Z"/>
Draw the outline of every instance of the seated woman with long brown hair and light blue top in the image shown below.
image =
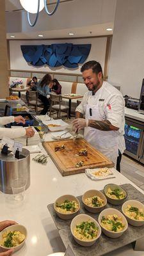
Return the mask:
<path fill-rule="evenodd" d="M 38 82 L 36 85 L 36 90 L 38 92 L 38 99 L 42 100 L 44 104 L 44 109 L 40 112 L 40 115 L 45 115 L 50 106 L 50 94 L 51 94 L 51 86 L 52 78 L 49 74 L 46 74 L 42 80 Z"/>

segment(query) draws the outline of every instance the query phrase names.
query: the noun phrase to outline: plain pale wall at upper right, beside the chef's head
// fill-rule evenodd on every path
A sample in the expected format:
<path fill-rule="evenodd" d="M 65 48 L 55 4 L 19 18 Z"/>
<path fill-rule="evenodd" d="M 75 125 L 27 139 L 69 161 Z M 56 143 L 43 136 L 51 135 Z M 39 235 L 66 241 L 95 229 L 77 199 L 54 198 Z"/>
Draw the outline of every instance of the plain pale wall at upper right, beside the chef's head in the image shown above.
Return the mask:
<path fill-rule="evenodd" d="M 117 0 L 109 63 L 109 83 L 135 98 L 140 98 L 144 77 L 143 11 L 143 0 Z"/>

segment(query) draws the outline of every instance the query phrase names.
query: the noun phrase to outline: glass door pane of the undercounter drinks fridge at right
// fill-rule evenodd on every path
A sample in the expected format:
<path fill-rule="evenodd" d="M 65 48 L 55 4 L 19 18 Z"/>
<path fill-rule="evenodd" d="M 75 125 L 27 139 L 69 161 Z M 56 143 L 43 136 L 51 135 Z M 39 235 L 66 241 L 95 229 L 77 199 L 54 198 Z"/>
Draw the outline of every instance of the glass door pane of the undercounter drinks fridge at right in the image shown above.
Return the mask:
<path fill-rule="evenodd" d="M 125 153 L 136 159 L 139 157 L 138 154 L 142 132 L 143 129 L 130 124 L 125 124 Z"/>

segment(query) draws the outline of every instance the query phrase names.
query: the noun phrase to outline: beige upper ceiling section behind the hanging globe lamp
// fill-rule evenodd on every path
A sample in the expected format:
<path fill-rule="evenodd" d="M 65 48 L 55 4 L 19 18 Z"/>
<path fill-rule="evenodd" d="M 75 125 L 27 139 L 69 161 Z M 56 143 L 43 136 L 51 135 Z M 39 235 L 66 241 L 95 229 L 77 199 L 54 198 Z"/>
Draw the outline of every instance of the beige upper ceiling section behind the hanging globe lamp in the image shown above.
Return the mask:
<path fill-rule="evenodd" d="M 51 1 L 48 2 L 51 3 Z M 115 3 L 116 0 L 73 0 L 60 3 L 58 10 L 52 16 L 47 15 L 45 10 L 42 10 L 34 27 L 29 26 L 26 12 L 6 13 L 6 31 L 7 33 L 14 31 L 33 33 L 33 31 L 70 30 L 70 28 L 113 22 Z M 30 15 L 30 17 L 33 22 L 35 15 Z M 15 22 L 17 30 L 15 29 Z M 22 25 L 21 28 L 18 24 Z"/>

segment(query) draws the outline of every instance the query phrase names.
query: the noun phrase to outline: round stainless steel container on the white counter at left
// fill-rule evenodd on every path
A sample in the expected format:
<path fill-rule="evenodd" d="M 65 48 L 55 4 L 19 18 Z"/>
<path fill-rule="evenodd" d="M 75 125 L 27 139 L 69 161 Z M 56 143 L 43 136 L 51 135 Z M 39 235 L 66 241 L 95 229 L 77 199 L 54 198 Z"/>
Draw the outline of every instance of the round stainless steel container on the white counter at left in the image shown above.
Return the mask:
<path fill-rule="evenodd" d="M 11 180 L 26 179 L 26 189 L 30 186 L 30 153 L 22 148 L 22 159 L 15 158 L 12 153 L 7 156 L 0 153 L 0 191 L 12 194 Z"/>

